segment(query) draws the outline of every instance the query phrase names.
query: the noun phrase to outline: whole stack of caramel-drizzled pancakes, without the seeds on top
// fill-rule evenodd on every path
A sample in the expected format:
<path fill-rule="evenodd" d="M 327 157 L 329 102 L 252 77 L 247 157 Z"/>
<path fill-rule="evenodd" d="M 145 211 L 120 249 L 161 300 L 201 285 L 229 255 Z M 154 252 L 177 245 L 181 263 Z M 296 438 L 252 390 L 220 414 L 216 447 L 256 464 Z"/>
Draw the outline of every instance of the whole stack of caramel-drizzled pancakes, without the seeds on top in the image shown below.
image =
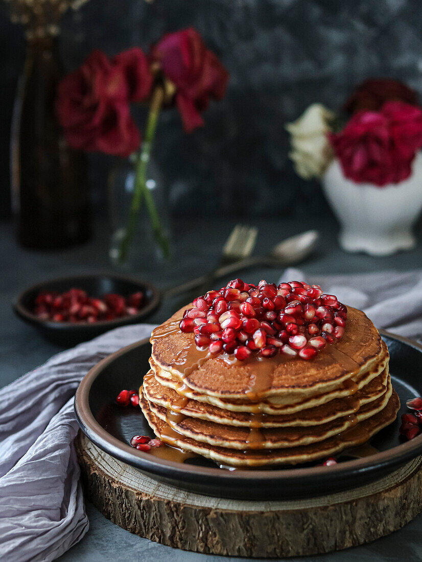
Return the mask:
<path fill-rule="evenodd" d="M 297 464 L 360 445 L 396 419 L 388 350 L 360 310 L 343 338 L 303 361 L 211 355 L 183 333 L 185 309 L 154 330 L 140 406 L 167 445 L 229 466 Z"/>

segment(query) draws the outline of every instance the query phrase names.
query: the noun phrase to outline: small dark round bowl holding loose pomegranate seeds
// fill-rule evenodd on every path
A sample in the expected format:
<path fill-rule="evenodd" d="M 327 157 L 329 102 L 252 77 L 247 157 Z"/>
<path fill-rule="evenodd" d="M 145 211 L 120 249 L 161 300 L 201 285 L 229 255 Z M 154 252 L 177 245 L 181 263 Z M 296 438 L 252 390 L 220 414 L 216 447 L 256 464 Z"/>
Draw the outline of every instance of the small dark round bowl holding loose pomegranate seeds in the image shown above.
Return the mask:
<path fill-rule="evenodd" d="M 72 287 L 83 289 L 90 297 L 101 297 L 105 293 L 117 293 L 127 297 L 132 293 L 143 291 L 146 303 L 138 314 L 133 316 L 123 316 L 115 320 L 102 320 L 93 324 L 42 320 L 33 313 L 35 297 L 40 291 L 62 293 L 69 291 Z M 20 294 L 15 305 L 13 305 L 13 310 L 19 318 L 28 324 L 32 324 L 49 341 L 70 347 L 76 343 L 88 341 L 88 339 L 99 336 L 99 334 L 113 328 L 119 328 L 126 324 L 138 324 L 151 315 L 158 308 L 160 302 L 160 291 L 150 283 L 121 277 L 120 275 L 93 274 L 62 277 L 33 285 Z"/>

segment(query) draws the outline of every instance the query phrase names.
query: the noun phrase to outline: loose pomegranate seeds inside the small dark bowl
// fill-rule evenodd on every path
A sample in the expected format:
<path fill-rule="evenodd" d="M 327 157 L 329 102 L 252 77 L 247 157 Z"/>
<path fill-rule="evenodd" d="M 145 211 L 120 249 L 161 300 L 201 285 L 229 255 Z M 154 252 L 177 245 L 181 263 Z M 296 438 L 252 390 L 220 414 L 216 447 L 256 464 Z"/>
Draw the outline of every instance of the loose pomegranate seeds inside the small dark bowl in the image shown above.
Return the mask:
<path fill-rule="evenodd" d="M 41 292 L 35 298 L 34 314 L 42 320 L 54 322 L 88 322 L 115 320 L 138 314 L 144 304 L 144 293 L 129 297 L 108 293 L 101 298 L 89 297 L 82 289 L 72 288 L 65 293 Z"/>

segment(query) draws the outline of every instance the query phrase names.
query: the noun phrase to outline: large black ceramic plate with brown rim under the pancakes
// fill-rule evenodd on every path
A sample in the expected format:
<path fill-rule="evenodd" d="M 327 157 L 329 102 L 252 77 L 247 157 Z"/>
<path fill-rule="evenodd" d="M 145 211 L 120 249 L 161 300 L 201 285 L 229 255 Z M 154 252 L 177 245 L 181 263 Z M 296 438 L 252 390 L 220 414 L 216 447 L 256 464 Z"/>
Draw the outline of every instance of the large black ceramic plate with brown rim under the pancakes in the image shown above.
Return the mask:
<path fill-rule="evenodd" d="M 393 386 L 401 401 L 396 422 L 380 431 L 371 445 L 379 452 L 361 459 L 344 460 L 334 466 L 301 466 L 276 470 L 218 468 L 198 457 L 185 463 L 158 459 L 135 450 L 129 439 L 136 434 L 153 435 L 142 412 L 114 402 L 122 388 L 138 388 L 149 369 L 151 346 L 135 343 L 107 357 L 89 371 L 75 398 L 75 413 L 83 432 L 104 451 L 131 464 L 152 478 L 211 496 L 242 499 L 277 499 L 318 496 L 361 486 L 391 472 L 422 453 L 422 435 L 403 442 L 400 416 L 406 400 L 422 396 L 422 346 L 408 339 L 381 332 L 391 355 Z"/>

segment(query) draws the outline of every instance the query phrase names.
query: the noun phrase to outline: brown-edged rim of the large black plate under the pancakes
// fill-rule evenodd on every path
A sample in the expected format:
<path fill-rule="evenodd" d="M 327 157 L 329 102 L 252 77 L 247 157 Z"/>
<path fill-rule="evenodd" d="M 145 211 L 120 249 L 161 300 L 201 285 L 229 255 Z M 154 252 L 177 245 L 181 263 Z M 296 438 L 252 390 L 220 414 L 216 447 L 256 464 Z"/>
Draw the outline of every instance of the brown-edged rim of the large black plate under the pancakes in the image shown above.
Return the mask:
<path fill-rule="evenodd" d="M 386 330 L 379 330 L 381 336 L 390 339 L 396 339 L 422 353 L 422 345 L 411 339 L 397 336 Z M 208 468 L 205 466 L 196 466 L 190 464 L 180 464 L 175 461 L 160 459 L 158 457 L 151 457 L 148 453 L 138 451 L 127 445 L 120 439 L 108 433 L 94 418 L 92 411 L 89 407 L 89 391 L 94 380 L 101 374 L 103 368 L 111 362 L 118 359 L 135 347 L 145 345 L 149 339 L 132 343 L 129 346 L 123 347 L 121 350 L 112 353 L 105 357 L 92 369 L 90 369 L 81 380 L 75 395 L 75 415 L 80 428 L 85 435 L 95 443 L 103 451 L 117 457 L 127 464 L 131 464 L 140 470 L 151 474 L 162 475 L 164 477 L 177 478 L 184 476 L 195 482 L 202 481 L 202 479 L 209 478 L 214 482 L 222 484 L 228 482 L 236 482 L 237 484 L 249 482 L 269 482 L 269 481 L 301 481 L 302 479 L 319 478 L 321 481 L 326 481 L 335 477 L 335 479 L 346 476 L 346 474 L 359 474 L 370 470 L 378 470 L 383 465 L 395 466 L 405 463 L 422 452 L 422 434 L 415 437 L 411 441 L 407 441 L 388 449 L 387 451 L 380 451 L 370 457 L 362 459 L 353 459 L 344 461 L 333 466 L 311 466 L 306 468 L 293 468 L 293 469 L 237 469 L 234 472 L 229 470 L 221 470 L 219 468 Z"/>

